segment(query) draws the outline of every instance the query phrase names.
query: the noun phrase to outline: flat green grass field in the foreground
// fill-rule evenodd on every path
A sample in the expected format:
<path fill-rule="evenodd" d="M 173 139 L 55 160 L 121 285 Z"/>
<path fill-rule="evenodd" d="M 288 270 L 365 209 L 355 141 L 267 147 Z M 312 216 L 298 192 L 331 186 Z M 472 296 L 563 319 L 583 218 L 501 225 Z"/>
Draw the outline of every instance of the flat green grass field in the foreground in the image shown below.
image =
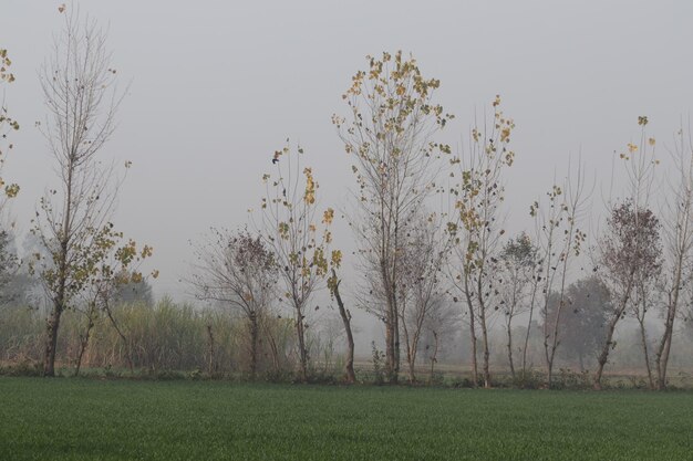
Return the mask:
<path fill-rule="evenodd" d="M 691 460 L 693 394 L 0 378 L 0 460 Z"/>

